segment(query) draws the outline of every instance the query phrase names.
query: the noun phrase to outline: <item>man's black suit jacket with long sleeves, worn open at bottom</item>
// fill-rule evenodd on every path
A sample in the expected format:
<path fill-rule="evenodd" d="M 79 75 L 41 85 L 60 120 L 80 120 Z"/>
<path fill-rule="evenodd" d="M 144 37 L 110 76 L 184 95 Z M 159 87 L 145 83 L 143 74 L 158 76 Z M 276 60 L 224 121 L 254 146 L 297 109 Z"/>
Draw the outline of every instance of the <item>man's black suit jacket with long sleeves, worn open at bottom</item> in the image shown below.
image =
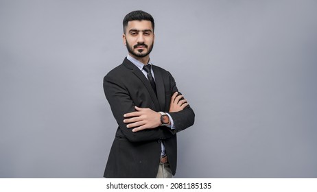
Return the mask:
<path fill-rule="evenodd" d="M 105 178 L 155 178 L 161 156 L 161 142 L 173 175 L 176 171 L 176 132 L 193 125 L 190 106 L 180 112 L 170 112 L 175 130 L 165 126 L 132 132 L 126 128 L 124 114 L 135 111 L 134 106 L 168 112 L 172 94 L 178 91 L 172 75 L 153 66 L 157 96 L 139 68 L 125 58 L 104 77 L 104 93 L 119 127 L 110 149 L 104 171 Z"/>

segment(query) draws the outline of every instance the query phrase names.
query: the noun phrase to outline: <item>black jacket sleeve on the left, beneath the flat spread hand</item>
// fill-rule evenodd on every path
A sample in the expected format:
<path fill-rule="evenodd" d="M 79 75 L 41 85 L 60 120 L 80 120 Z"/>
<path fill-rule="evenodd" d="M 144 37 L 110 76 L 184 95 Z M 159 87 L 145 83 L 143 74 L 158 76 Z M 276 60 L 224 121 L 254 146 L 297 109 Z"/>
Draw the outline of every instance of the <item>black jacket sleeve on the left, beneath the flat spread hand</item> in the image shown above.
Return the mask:
<path fill-rule="evenodd" d="M 124 83 L 118 80 L 115 75 L 108 74 L 104 77 L 104 93 L 110 104 L 113 116 L 115 117 L 121 132 L 128 141 L 154 141 L 158 139 L 167 139 L 173 135 L 165 126 L 159 126 L 154 129 L 145 129 L 139 132 L 132 132 L 132 128 L 126 128 L 127 124 L 124 123 L 124 114 L 135 111 L 135 104 L 130 97 L 128 88 L 126 88 Z"/>

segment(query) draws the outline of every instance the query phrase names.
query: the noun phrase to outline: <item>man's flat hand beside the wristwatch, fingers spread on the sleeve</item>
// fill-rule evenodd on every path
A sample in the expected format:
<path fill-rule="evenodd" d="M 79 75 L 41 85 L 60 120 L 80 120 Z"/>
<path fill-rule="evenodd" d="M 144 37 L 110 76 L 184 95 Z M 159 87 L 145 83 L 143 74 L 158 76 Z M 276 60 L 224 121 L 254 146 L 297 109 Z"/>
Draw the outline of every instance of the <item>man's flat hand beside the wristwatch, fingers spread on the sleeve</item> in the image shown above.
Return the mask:
<path fill-rule="evenodd" d="M 132 132 L 138 132 L 145 129 L 157 128 L 161 125 L 161 114 L 150 108 L 139 108 L 137 111 L 129 112 L 124 115 L 124 123 L 128 123 L 127 128 L 134 128 Z"/>

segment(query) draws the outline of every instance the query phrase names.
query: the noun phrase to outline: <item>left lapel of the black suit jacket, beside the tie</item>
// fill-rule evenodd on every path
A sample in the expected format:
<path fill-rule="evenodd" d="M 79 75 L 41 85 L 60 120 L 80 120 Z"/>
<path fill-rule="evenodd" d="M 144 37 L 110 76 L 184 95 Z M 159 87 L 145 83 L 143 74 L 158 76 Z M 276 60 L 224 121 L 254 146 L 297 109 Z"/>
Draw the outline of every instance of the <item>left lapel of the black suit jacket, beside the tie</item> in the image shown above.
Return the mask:
<path fill-rule="evenodd" d="M 149 82 L 149 80 L 145 77 L 145 75 L 142 73 L 142 71 L 140 71 L 139 68 L 137 68 L 132 62 L 130 62 L 130 60 L 128 60 L 127 58 L 125 58 L 124 62 L 123 62 L 124 66 L 126 66 L 128 69 L 131 69 L 132 72 L 134 73 L 134 75 L 137 75 L 137 77 L 139 77 L 139 79 L 141 80 L 141 82 L 143 82 L 145 88 L 148 90 L 148 92 L 150 93 L 150 96 L 152 98 L 152 101 L 154 103 L 155 106 L 155 110 L 160 110 L 160 104 L 158 103 L 158 99 L 153 91 L 153 88 Z M 157 85 L 156 85 L 157 86 Z M 157 87 L 156 87 L 157 90 Z"/>

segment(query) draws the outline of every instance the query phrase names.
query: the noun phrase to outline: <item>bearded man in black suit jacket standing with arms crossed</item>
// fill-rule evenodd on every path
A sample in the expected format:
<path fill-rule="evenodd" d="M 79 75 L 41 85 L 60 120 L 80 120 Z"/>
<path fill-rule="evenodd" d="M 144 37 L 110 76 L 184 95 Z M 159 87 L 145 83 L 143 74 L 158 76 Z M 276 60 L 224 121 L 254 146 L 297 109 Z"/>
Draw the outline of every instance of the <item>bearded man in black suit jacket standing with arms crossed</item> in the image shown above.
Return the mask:
<path fill-rule="evenodd" d="M 105 178 L 172 178 L 176 132 L 193 125 L 194 113 L 172 75 L 154 66 L 154 19 L 143 11 L 124 18 L 128 56 L 104 77 L 104 93 L 119 127 Z"/>

